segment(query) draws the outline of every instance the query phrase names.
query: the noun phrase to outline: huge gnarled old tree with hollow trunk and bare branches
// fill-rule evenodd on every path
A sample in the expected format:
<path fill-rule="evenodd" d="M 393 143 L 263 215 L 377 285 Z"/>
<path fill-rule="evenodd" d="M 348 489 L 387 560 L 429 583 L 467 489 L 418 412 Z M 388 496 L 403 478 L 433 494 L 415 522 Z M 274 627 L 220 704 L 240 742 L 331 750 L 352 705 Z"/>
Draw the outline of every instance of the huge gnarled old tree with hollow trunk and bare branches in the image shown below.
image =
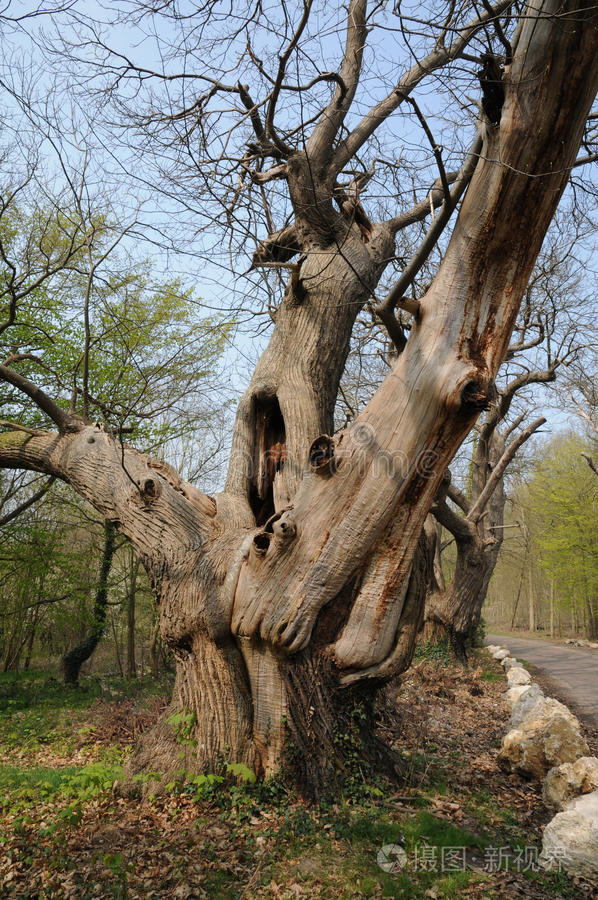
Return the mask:
<path fill-rule="evenodd" d="M 165 464 L 121 448 L 102 424 L 66 411 L 21 374 L 18 361 L 0 366 L 0 377 L 53 424 L 9 426 L 0 465 L 64 479 L 141 555 L 177 660 L 170 712 L 195 713 L 196 745 L 187 747 L 186 765 L 213 767 L 225 758 L 270 773 L 288 739 L 311 793 L 334 775 L 335 732 L 352 706 L 409 665 L 430 565 L 420 542 L 424 520 L 488 404 L 598 88 L 593 5 L 532 0 L 515 22 L 500 0 L 472 5 L 470 20 L 443 7 L 428 55 L 396 65 L 402 74 L 392 90 L 356 116 L 365 97 L 364 46 L 379 9 L 368 14 L 365 0 L 351 0 L 339 70 L 289 84 L 293 54 L 301 54 L 315 13 L 311 0 L 296 18 L 285 6 L 294 33 L 272 75 L 247 41 L 264 97 L 213 79 L 191 102 L 187 87 L 186 106 L 171 116 L 203 129 L 205 150 L 209 104 L 237 97 L 254 130 L 239 161 L 244 177 L 258 187 L 275 180 L 292 203 L 292 220 L 254 258 L 256 266 L 297 260 L 239 404 L 222 493 L 206 496 Z M 202 27 L 194 31 L 200 46 Z M 480 55 L 491 34 L 502 64 L 491 47 Z M 474 71 L 481 65 L 483 94 L 474 142 L 460 170 L 449 173 L 413 94 L 459 58 Z M 131 74 L 125 57 L 111 59 L 119 80 Z M 137 75 L 142 83 L 143 70 Z M 323 84 L 333 93 L 317 115 L 301 127 L 276 127 L 285 91 L 306 94 Z M 412 210 L 376 220 L 375 203 L 369 212 L 362 205 L 368 174 L 359 160 L 378 146 L 385 123 L 412 110 L 432 141 L 439 178 Z M 459 203 L 436 276 L 424 296 L 407 298 L 410 279 Z M 330 437 L 355 317 L 371 302 L 401 229 L 435 207 L 423 245 L 377 307 L 400 350 L 396 364 L 355 423 Z M 7 297 L 10 317 L 10 285 Z M 412 316 L 408 339 L 397 309 Z M 164 720 L 145 737 L 133 767 L 180 768 L 180 752 Z"/>

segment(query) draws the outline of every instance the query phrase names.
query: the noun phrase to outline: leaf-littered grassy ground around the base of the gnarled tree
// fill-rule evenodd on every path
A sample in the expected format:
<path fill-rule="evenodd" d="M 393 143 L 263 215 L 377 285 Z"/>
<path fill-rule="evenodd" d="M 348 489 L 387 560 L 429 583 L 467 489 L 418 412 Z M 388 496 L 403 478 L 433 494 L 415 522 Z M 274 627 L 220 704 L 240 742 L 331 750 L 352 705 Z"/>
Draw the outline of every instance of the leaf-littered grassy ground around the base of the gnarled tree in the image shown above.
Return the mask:
<path fill-rule="evenodd" d="M 413 676 L 420 705 L 406 694 L 396 707 L 391 686 L 394 719 L 380 722 L 404 761 L 400 780 L 356 758 L 338 794 L 312 806 L 284 777 L 257 782 L 247 766 L 226 760 L 218 771 L 181 769 L 167 782 L 160 773 L 138 776 L 161 782 L 140 806 L 123 792 L 123 765 L 135 735 L 162 711 L 164 683 L 133 683 L 127 696 L 117 680 L 73 691 L 39 673 L 0 678 L 0 698 L 14 701 L 0 709 L 0 893 L 486 900 L 507 896 L 500 879 L 517 877 L 527 897 L 574 897 L 558 874 L 511 866 L 512 875 L 508 865 L 484 872 L 493 847 L 516 850 L 530 840 L 526 826 L 489 787 L 467 788 L 463 752 L 439 742 L 421 718 L 426 709 L 454 709 L 459 691 L 494 689 L 480 687 L 494 671 L 480 659 L 472 671 L 420 649 Z M 179 739 L 192 740 L 189 715 L 177 716 Z M 359 719 L 353 725 L 358 731 Z M 353 737 L 349 729 L 338 739 Z M 400 865 L 387 871 L 392 854 Z M 451 870 L 451 859 L 461 868 Z"/>

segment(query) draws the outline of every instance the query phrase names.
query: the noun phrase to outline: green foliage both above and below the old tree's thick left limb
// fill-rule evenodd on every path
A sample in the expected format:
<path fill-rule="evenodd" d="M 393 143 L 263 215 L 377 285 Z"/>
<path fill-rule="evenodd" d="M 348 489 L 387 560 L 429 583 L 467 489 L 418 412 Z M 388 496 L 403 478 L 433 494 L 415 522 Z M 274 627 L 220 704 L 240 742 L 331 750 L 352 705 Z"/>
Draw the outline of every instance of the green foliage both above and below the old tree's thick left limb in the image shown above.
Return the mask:
<path fill-rule="evenodd" d="M 198 477 L 202 461 L 214 459 L 227 407 L 219 367 L 231 323 L 205 315 L 181 279 L 132 258 L 107 209 L 44 209 L 26 194 L 18 203 L 13 197 L 0 210 L 0 302 L 5 310 L 15 304 L 0 358 L 12 359 L 62 408 L 117 435 L 125 429 L 138 449 L 187 453 L 194 466 L 187 474 Z M 0 405 L 3 419 L 48 426 L 30 398 L 5 382 Z M 11 444 L 23 439 L 0 435 Z M 6 496 L 10 505 L 34 491 L 28 476 L 25 487 L 15 492 L 9 484 L 5 492 L 3 478 L 0 507 Z M 41 514 L 31 509 L 4 530 L 0 666 L 18 668 L 41 646 L 60 656 L 89 631 L 98 528 L 83 502 L 68 507 L 67 497 L 54 485 Z M 121 582 L 113 577 L 111 591 Z M 149 594 L 146 582 L 146 607 Z M 147 634 L 153 622 L 145 619 Z"/>

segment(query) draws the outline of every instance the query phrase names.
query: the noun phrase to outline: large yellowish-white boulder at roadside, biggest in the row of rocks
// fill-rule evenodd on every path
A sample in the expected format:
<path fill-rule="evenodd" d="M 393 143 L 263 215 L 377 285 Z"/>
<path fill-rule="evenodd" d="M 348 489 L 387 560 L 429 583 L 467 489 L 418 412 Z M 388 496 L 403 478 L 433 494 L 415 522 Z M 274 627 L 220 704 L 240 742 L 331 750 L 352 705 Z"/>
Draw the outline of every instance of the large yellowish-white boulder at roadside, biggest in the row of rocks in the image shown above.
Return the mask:
<path fill-rule="evenodd" d="M 545 700 L 534 718 L 524 719 L 504 736 L 497 758 L 501 769 L 542 779 L 554 766 L 589 754 L 579 721 L 566 707 L 561 712 L 552 703 L 558 701 Z"/>

